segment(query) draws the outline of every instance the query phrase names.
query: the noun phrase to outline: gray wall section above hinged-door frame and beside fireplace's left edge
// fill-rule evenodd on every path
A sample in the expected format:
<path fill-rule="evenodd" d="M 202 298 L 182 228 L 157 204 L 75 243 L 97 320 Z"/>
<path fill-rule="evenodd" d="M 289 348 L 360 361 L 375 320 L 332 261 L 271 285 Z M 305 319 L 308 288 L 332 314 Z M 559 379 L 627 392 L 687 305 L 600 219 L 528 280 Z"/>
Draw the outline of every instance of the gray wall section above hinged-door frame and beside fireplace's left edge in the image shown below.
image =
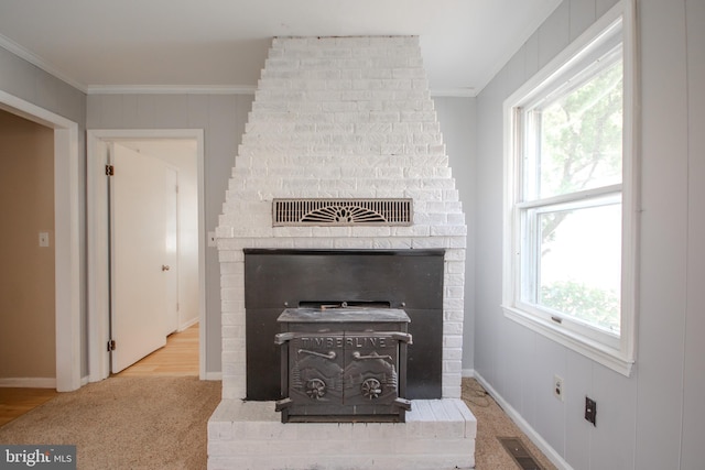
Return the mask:
<path fill-rule="evenodd" d="M 206 231 L 215 230 L 253 95 L 89 95 L 88 129 L 203 129 Z M 206 241 L 207 233 L 202 234 Z M 220 265 L 206 248 L 206 373 L 220 372 Z"/>

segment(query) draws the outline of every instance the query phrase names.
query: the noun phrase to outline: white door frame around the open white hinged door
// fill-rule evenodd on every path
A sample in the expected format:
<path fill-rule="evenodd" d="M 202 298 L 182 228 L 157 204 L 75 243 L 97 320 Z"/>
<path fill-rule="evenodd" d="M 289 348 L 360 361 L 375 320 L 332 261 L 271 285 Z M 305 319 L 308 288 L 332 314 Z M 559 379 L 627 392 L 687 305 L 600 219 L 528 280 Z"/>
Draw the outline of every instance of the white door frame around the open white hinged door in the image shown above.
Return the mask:
<path fill-rule="evenodd" d="M 206 243 L 203 129 L 91 129 L 87 131 L 87 242 L 88 242 L 88 380 L 97 382 L 110 375 L 109 339 L 109 252 L 108 181 L 105 174 L 107 142 L 129 140 L 195 140 L 198 185 L 198 376 L 206 370 Z"/>

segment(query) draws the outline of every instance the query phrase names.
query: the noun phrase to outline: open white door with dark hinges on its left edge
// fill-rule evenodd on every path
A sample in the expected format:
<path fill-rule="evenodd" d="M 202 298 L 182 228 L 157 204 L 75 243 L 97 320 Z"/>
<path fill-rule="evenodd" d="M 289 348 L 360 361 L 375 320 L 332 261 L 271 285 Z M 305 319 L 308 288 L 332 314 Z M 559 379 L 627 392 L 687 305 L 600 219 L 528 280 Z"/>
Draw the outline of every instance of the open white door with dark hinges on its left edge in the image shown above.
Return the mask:
<path fill-rule="evenodd" d="M 112 145 L 111 372 L 166 343 L 166 164 Z"/>

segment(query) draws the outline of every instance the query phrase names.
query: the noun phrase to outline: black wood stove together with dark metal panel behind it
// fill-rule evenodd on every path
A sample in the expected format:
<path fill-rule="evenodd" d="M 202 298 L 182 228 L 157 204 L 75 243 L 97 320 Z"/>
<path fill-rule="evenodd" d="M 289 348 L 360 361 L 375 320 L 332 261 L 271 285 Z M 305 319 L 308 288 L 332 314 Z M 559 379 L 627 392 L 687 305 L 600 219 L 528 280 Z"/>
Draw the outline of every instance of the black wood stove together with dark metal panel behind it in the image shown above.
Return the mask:
<path fill-rule="evenodd" d="M 443 275 L 443 250 L 246 249 L 246 400 L 349 422 L 441 398 Z"/>

